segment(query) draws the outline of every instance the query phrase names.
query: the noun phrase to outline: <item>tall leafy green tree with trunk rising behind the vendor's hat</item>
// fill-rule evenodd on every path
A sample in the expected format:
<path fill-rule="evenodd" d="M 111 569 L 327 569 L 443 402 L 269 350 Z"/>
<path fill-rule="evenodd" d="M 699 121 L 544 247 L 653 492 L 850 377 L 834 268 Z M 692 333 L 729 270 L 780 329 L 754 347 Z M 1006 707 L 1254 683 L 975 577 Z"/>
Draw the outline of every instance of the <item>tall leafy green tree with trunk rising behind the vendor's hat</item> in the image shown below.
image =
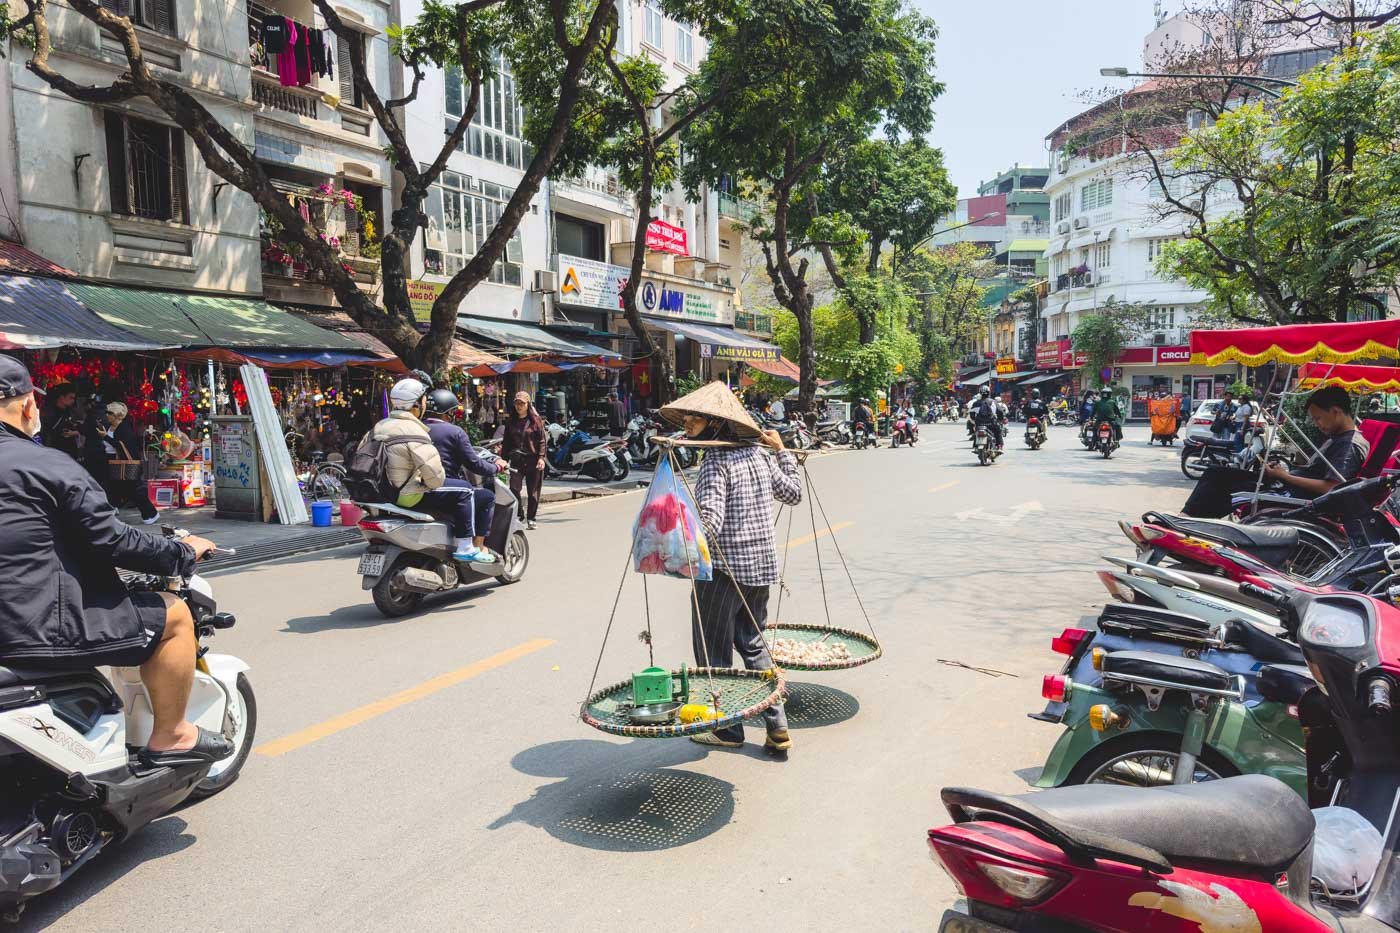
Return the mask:
<path fill-rule="evenodd" d="M 858 240 L 822 207 L 823 167 L 876 130 L 923 136 L 942 87 L 932 76 L 932 21 L 900 0 L 748 0 L 742 27 L 715 32 L 696 81 L 710 97 L 735 88 L 685 133 L 687 189 L 738 175 L 766 200 L 750 234 L 778 304 L 799 331 L 799 405 L 816 394 L 811 251 Z M 823 261 L 826 256 L 823 254 Z M 834 258 L 832 259 L 834 265 Z"/>

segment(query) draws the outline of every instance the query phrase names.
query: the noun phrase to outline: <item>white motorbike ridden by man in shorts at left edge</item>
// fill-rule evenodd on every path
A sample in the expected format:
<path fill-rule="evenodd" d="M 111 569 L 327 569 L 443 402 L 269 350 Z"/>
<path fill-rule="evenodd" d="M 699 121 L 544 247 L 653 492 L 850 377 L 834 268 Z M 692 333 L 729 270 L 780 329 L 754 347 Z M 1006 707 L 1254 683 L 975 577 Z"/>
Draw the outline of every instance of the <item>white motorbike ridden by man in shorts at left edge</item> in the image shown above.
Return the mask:
<path fill-rule="evenodd" d="M 200 647 L 185 717 L 223 733 L 234 754 L 213 763 L 143 763 L 137 752 L 154 720 L 139 668 L 0 667 L 0 919 L 18 920 L 31 898 L 186 800 L 224 790 L 248 761 L 258 728 L 248 664 L 203 646 L 232 628 L 234 615 L 218 611 L 199 574 L 139 574 L 127 587 L 171 593 L 189 607 Z"/>

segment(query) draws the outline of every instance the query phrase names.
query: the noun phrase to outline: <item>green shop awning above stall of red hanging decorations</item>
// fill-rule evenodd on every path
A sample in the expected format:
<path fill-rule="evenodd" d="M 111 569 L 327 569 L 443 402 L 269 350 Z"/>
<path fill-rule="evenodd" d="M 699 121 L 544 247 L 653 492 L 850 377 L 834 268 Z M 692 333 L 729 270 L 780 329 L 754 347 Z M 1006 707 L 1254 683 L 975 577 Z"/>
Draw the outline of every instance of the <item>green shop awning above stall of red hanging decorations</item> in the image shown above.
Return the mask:
<path fill-rule="evenodd" d="M 354 340 L 308 324 L 256 298 L 118 286 L 70 284 L 73 294 L 108 324 L 164 346 L 273 350 L 344 350 Z"/>

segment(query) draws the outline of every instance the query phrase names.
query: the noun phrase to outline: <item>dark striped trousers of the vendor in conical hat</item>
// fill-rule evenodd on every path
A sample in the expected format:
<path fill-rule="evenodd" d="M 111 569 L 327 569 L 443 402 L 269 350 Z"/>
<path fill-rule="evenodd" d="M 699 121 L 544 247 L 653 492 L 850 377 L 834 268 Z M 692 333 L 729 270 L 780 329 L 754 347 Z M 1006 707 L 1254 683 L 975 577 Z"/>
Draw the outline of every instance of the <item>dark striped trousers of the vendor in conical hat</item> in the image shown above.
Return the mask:
<path fill-rule="evenodd" d="M 769 644 L 763 640 L 762 633 L 769 621 L 769 587 L 735 583 L 734 577 L 720 570 L 714 572 L 714 580 L 697 580 L 694 586 L 696 601 L 690 607 L 690 640 L 696 653 L 696 664 L 734 667 L 734 653 L 738 651 L 748 670 L 770 670 L 773 658 L 769 656 Z M 745 602 L 748 602 L 748 609 L 743 608 Z M 753 619 L 749 619 L 750 611 Z M 703 639 L 701 633 L 704 633 Z M 763 723 L 770 733 L 785 730 L 787 713 L 783 703 L 774 703 L 763 710 Z M 742 740 L 743 726 L 717 730 L 715 734 L 722 738 Z"/>

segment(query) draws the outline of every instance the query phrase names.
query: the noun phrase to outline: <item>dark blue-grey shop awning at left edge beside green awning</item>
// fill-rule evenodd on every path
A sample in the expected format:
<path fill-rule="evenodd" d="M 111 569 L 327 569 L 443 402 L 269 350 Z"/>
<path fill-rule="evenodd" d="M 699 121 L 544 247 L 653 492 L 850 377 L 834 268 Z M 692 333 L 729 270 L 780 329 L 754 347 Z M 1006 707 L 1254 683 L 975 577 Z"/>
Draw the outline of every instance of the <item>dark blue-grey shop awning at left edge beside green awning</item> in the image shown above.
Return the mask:
<path fill-rule="evenodd" d="M 0 349 L 41 350 L 76 346 L 92 350 L 154 350 L 172 340 L 148 339 L 90 311 L 57 279 L 0 276 Z"/>

